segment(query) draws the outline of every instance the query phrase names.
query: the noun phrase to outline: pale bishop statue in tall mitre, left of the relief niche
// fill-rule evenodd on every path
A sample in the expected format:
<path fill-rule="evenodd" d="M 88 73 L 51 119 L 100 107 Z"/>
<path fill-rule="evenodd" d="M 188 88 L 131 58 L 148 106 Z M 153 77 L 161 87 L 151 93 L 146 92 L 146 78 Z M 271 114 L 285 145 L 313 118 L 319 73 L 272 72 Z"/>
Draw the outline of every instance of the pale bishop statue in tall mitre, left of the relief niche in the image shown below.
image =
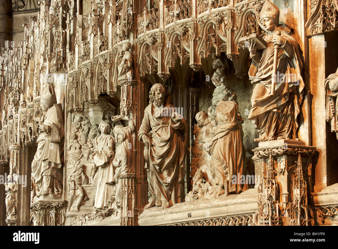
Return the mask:
<path fill-rule="evenodd" d="M 62 107 L 56 103 L 55 91 L 51 84 L 42 91 L 41 109 L 45 114 L 39 124 L 38 148 L 32 162 L 37 197 L 62 193 L 61 148 L 64 139 L 64 120 Z"/>

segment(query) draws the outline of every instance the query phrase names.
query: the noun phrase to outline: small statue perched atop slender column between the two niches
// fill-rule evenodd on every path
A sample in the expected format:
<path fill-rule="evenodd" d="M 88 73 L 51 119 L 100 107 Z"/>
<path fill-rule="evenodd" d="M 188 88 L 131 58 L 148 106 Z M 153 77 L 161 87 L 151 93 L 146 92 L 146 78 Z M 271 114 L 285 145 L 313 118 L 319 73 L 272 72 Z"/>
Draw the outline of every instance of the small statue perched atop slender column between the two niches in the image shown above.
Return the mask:
<path fill-rule="evenodd" d="M 117 66 L 118 69 L 118 80 L 132 79 L 133 69 L 132 69 L 132 54 L 129 51 L 131 48 L 130 42 L 124 42 L 122 44 L 122 51 L 120 54 L 120 62 Z"/>

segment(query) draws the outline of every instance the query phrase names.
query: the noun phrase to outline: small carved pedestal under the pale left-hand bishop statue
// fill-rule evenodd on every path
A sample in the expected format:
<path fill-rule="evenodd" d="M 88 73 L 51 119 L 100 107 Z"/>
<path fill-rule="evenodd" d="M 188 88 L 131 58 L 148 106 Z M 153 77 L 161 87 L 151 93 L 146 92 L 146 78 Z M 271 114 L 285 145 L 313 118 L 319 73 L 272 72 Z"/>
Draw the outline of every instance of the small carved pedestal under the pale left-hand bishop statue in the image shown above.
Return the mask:
<path fill-rule="evenodd" d="M 42 195 L 44 196 L 44 195 Z M 37 226 L 63 226 L 66 220 L 66 202 L 49 198 L 34 198 L 33 212 Z"/>

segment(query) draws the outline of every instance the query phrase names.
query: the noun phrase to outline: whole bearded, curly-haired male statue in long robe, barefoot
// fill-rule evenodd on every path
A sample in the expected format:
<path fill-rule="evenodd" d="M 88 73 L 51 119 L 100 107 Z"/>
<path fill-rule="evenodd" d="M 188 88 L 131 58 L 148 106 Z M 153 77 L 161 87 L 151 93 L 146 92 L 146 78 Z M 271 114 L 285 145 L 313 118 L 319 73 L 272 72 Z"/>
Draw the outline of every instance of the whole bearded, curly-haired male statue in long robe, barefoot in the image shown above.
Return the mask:
<path fill-rule="evenodd" d="M 151 87 L 149 98 L 138 132 L 144 143 L 151 193 L 144 209 L 155 205 L 164 209 L 184 201 L 187 122 L 172 111 L 175 109 L 167 103 L 167 91 L 161 84 Z"/>

